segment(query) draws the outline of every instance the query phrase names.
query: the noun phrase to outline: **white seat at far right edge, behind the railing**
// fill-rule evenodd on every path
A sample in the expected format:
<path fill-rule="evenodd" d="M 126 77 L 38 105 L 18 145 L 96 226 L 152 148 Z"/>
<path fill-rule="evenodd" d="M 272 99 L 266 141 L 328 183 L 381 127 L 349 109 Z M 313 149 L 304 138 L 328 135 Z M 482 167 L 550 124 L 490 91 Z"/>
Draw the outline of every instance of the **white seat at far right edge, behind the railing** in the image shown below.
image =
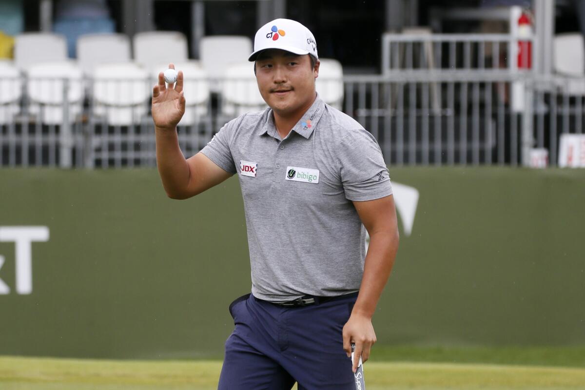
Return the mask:
<path fill-rule="evenodd" d="M 585 47 L 583 35 L 558 34 L 553 39 L 553 68 L 559 75 L 558 86 L 568 95 L 585 95 Z"/>

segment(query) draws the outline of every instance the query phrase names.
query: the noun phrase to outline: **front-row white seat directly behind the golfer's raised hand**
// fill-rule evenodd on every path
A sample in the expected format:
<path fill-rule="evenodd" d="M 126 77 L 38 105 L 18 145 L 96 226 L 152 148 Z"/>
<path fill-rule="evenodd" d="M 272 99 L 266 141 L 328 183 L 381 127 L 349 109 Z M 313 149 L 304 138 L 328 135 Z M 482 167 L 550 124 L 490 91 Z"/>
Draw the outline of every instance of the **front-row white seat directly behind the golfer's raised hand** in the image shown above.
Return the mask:
<path fill-rule="evenodd" d="M 176 63 L 175 69 L 183 71 L 184 84 L 183 91 L 185 94 L 185 113 L 180 126 L 193 125 L 199 122 L 202 116 L 208 114 L 209 104 L 209 82 L 207 74 L 201 67 L 199 61 L 188 61 L 185 63 Z M 166 70 L 167 64 L 160 64 L 153 70 L 153 76 L 157 80 L 159 73 Z M 154 81 L 157 82 L 157 81 Z M 154 84 L 153 84 L 154 85 Z"/>

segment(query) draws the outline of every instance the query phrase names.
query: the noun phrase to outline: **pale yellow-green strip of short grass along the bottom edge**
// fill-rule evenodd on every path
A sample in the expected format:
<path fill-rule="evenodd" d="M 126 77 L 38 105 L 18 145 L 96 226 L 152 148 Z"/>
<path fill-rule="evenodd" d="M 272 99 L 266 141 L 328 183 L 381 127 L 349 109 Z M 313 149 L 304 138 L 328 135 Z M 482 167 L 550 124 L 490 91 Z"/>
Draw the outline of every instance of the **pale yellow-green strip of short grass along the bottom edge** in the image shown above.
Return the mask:
<path fill-rule="evenodd" d="M 112 361 L 0 357 L 2 390 L 216 389 L 221 361 Z M 364 365 L 368 390 L 585 388 L 585 369 L 520 365 Z"/>

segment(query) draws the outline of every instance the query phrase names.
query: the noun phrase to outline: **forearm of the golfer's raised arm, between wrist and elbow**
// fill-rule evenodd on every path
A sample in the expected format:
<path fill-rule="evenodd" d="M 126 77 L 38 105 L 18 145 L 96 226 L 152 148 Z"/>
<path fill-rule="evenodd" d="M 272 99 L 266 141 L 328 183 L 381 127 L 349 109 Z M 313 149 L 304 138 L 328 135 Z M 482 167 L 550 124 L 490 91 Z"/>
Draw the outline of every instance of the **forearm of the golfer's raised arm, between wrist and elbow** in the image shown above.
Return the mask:
<path fill-rule="evenodd" d="M 189 184 L 187 160 L 178 143 L 177 130 L 154 128 L 156 134 L 156 161 L 164 191 L 171 198 L 181 198 Z"/>

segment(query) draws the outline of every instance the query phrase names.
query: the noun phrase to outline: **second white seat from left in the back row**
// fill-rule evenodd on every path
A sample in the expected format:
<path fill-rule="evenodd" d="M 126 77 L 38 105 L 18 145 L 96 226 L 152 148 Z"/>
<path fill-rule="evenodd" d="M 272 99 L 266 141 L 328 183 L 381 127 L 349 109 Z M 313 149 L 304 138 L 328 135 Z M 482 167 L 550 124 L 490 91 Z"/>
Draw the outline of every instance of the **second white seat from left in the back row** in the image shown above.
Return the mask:
<path fill-rule="evenodd" d="M 85 75 L 99 64 L 130 62 L 130 38 L 126 34 L 85 34 L 77 39 L 77 61 Z"/>

